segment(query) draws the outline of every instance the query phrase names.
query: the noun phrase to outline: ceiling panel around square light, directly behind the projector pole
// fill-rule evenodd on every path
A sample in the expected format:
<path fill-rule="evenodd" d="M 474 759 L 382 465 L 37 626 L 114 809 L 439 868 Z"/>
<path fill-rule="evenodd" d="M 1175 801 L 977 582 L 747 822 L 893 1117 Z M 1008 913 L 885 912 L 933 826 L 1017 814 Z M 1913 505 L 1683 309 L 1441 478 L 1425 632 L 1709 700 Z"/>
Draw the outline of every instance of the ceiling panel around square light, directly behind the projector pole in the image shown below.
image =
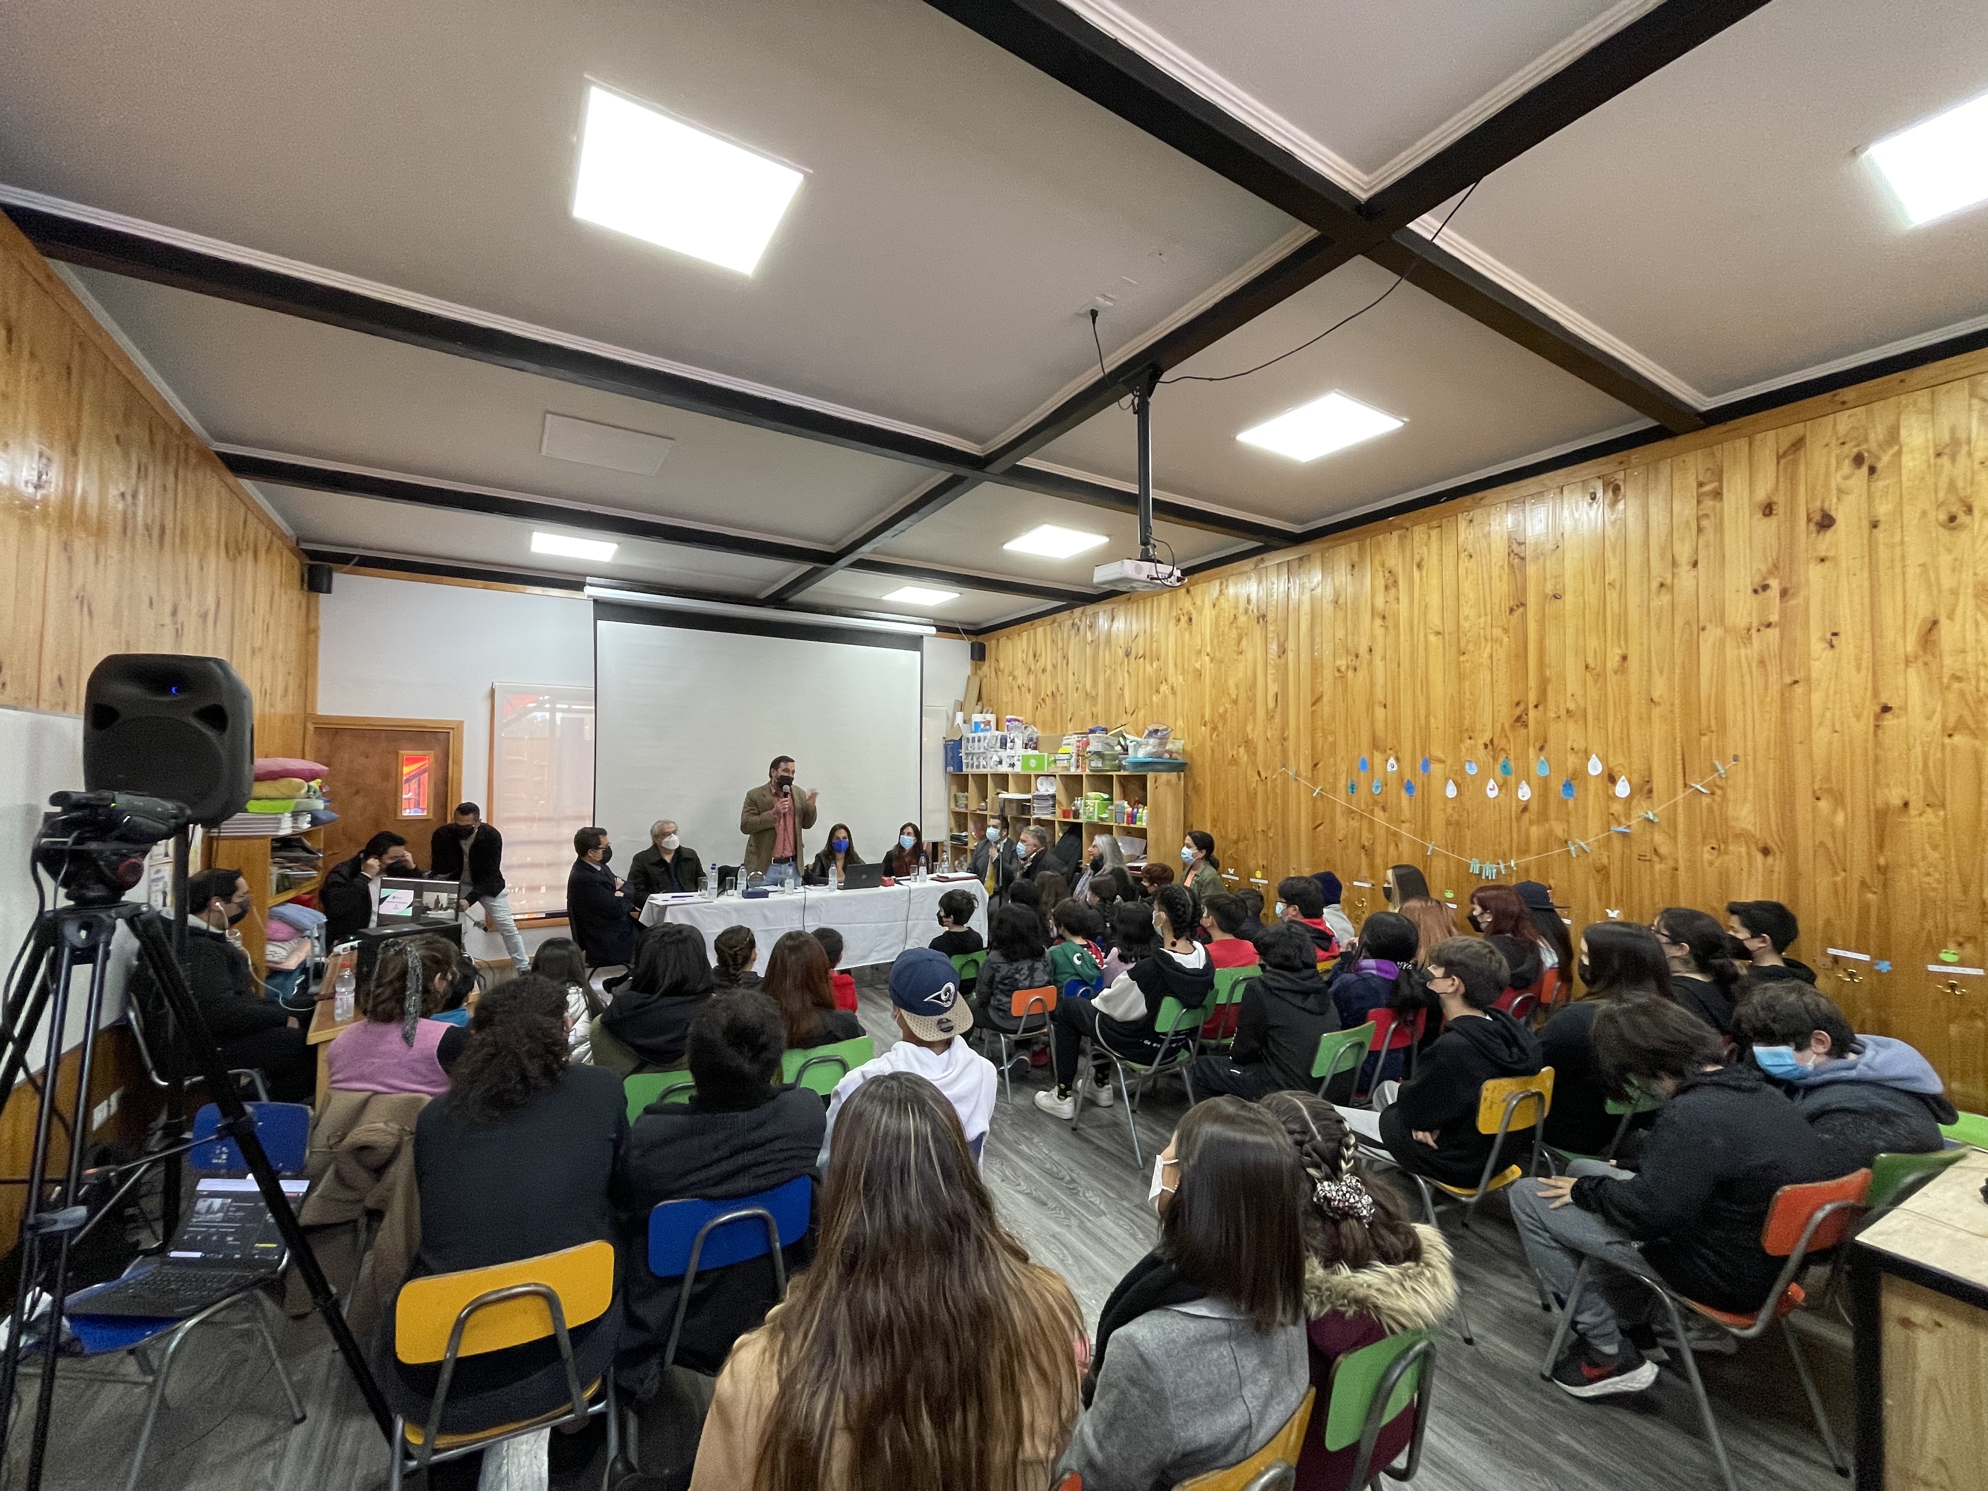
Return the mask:
<path fill-rule="evenodd" d="M 1394 278 L 1368 260 L 1346 264 L 1175 376 L 1254 368 L 1360 310 Z M 1237 441 L 1334 390 L 1408 423 L 1302 465 Z M 1163 384 L 1153 396 L 1153 481 L 1306 525 L 1634 423 L 1646 421 L 1409 282 L 1318 346 L 1248 378 Z M 1135 473 L 1133 435 L 1133 415 L 1111 408 L 1046 447 L 1044 459 L 1125 481 Z"/>

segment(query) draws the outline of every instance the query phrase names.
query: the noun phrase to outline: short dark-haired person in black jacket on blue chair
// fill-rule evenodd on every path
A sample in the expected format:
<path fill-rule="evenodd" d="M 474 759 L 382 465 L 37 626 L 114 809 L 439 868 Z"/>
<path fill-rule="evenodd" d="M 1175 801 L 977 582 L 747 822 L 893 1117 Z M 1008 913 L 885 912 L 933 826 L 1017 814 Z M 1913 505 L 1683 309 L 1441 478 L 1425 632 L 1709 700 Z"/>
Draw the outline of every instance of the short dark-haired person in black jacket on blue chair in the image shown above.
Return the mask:
<path fill-rule="evenodd" d="M 690 1022 L 688 1103 L 654 1101 L 622 1143 L 618 1203 L 626 1219 L 626 1324 L 616 1380 L 640 1400 L 654 1396 L 662 1352 L 676 1320 L 680 1280 L 656 1278 L 646 1262 L 648 1215 L 662 1201 L 730 1201 L 785 1185 L 795 1175 L 819 1179 L 815 1155 L 827 1119 L 805 1087 L 779 1083 L 785 1050 L 779 1010 L 765 994 L 744 990 L 710 1000 Z M 813 1258 L 811 1239 L 785 1248 L 787 1274 Z M 676 1344 L 676 1364 L 716 1374 L 744 1332 L 777 1304 L 773 1266 L 747 1258 L 730 1268 L 698 1270 L 690 1314 Z"/>

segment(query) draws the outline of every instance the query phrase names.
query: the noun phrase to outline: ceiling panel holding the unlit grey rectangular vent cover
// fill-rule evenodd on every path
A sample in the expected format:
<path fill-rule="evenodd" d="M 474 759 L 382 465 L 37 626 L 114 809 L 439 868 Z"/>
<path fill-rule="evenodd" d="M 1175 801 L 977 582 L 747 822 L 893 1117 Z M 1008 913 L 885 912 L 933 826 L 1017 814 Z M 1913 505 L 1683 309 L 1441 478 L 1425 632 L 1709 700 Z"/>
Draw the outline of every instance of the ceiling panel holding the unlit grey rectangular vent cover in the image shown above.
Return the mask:
<path fill-rule="evenodd" d="M 930 473 L 336 326 L 78 270 L 207 433 L 406 475 L 839 543 Z M 656 475 L 543 453 L 563 414 L 674 443 Z"/>

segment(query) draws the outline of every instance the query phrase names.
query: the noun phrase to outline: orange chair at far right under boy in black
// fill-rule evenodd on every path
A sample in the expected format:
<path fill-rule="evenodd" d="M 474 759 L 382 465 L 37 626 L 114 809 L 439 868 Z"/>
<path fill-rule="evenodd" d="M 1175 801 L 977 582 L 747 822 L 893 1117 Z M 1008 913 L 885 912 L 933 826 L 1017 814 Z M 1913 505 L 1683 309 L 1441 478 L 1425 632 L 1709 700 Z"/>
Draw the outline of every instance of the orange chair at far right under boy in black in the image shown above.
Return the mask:
<path fill-rule="evenodd" d="M 1849 1475 L 1849 1465 L 1837 1447 L 1829 1415 L 1823 1413 L 1823 1400 L 1815 1392 L 1815 1378 L 1809 1376 L 1809 1362 L 1801 1354 L 1801 1338 L 1789 1330 L 1787 1316 L 1807 1302 L 1807 1294 L 1803 1294 L 1801 1284 L 1795 1280 L 1801 1278 L 1809 1254 L 1827 1252 L 1849 1237 L 1851 1225 L 1865 1209 L 1869 1191 L 1871 1171 L 1865 1169 L 1837 1181 L 1783 1185 L 1773 1193 L 1773 1205 L 1767 1207 L 1767 1221 L 1759 1229 L 1759 1246 L 1769 1258 L 1785 1258 L 1787 1262 L 1781 1264 L 1773 1288 L 1767 1290 L 1767 1298 L 1761 1300 L 1757 1310 L 1718 1310 L 1710 1304 L 1690 1300 L 1654 1278 L 1630 1274 L 1630 1278 L 1648 1284 L 1650 1292 L 1662 1300 L 1664 1310 L 1670 1314 L 1670 1330 L 1678 1340 L 1684 1340 L 1686 1310 L 1692 1310 L 1702 1320 L 1710 1320 L 1734 1340 L 1755 1340 L 1779 1320 L 1781 1336 L 1787 1338 L 1787 1354 L 1795 1358 L 1795 1376 L 1801 1378 L 1801 1390 L 1809 1396 L 1809 1411 L 1815 1413 L 1815 1427 L 1823 1435 L 1823 1447 L 1829 1451 L 1829 1463 L 1835 1465 L 1837 1475 Z M 1553 1344 L 1547 1348 L 1541 1376 L 1551 1376 L 1553 1364 L 1561 1360 L 1567 1332 L 1574 1324 L 1574 1304 L 1588 1286 L 1588 1272 L 1594 1262 L 1596 1258 L 1592 1256 L 1582 1258 L 1580 1268 L 1574 1272 L 1574 1286 L 1567 1294 L 1567 1306 L 1561 1310 L 1561 1324 L 1553 1332 Z M 1706 1384 L 1698 1376 L 1696 1352 L 1692 1350 L 1684 1352 L 1684 1374 L 1690 1378 L 1692 1396 L 1698 1400 L 1698 1415 L 1706 1423 L 1706 1437 L 1712 1441 L 1712 1455 L 1720 1463 L 1726 1491 L 1740 1491 L 1732 1459 L 1726 1455 L 1726 1441 L 1720 1437 L 1720 1423 L 1712 1417 L 1712 1400 L 1706 1398 Z"/>

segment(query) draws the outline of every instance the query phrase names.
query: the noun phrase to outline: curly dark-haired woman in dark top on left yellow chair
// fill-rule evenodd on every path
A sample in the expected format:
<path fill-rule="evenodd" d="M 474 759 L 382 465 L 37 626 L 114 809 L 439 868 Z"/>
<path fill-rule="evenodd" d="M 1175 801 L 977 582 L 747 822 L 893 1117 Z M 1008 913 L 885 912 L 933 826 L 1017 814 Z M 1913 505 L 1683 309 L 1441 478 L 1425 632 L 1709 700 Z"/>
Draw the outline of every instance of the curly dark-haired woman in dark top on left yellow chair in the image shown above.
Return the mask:
<path fill-rule="evenodd" d="M 414 1125 L 421 1246 L 410 1278 L 489 1268 L 582 1242 L 618 1242 L 608 1183 L 628 1133 L 620 1077 L 567 1060 L 567 990 L 525 974 L 477 1000 L 449 1091 Z M 437 1368 L 394 1354 L 386 1310 L 374 1360 L 396 1409 L 425 1423 Z M 608 1370 L 620 1306 L 571 1332 L 580 1382 Z M 549 1338 L 465 1356 L 449 1380 L 441 1427 L 489 1429 L 569 1400 Z"/>

